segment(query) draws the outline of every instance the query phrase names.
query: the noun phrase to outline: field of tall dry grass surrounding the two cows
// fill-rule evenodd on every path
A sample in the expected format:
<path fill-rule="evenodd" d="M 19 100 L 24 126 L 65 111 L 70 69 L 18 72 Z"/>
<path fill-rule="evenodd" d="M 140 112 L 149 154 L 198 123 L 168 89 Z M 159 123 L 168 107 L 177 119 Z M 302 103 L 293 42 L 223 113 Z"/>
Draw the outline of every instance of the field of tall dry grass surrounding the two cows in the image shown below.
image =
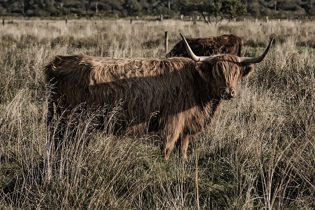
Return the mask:
<path fill-rule="evenodd" d="M 14 20 L 0 26 L 0 209 L 315 209 L 315 23 Z M 265 60 L 189 142 L 188 163 L 151 138 L 47 138 L 42 67 L 56 55 L 163 58 L 186 37 L 234 33 Z"/>

